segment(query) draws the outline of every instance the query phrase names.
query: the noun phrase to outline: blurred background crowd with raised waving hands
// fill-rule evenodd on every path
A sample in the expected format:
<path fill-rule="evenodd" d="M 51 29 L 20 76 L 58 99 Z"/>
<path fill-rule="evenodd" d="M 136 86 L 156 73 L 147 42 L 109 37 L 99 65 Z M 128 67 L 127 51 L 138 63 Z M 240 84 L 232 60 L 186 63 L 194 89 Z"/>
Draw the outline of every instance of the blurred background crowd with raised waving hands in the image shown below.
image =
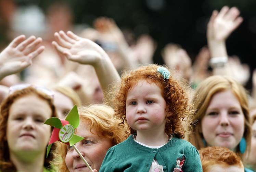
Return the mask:
<path fill-rule="evenodd" d="M 10 40 L 9 45 L 0 45 L 1 102 L 10 94 L 10 87 L 23 83 L 40 85 L 53 90 L 57 116 L 64 119 L 75 104 L 104 102 L 115 77 L 106 78 L 107 70 L 95 69 L 100 55 L 106 52 L 119 75 L 126 69 L 154 63 L 157 42 L 147 34 L 135 38 L 133 33 L 121 30 L 112 18 L 99 17 L 93 26 L 74 27 L 73 13 L 63 3 L 51 4 L 45 16 L 37 6 L 24 10 L 12 1 L 1 3 L 5 3 L 0 4 L 0 9 L 1 22 L 6 27 L 1 34 Z M 29 21 L 31 15 L 37 20 Z M 199 50 L 193 63 L 182 45 L 169 43 L 162 49 L 164 65 L 190 86 L 191 100 L 198 85 L 210 76 L 228 76 L 241 85 L 248 82 L 249 65 L 241 63 L 239 57 L 230 57 L 226 48 L 227 38 L 242 22 L 236 7 L 213 11 L 207 25 L 207 45 Z M 86 41 L 81 44 L 84 39 L 98 44 L 104 52 L 94 51 Z M 86 60 L 79 61 L 81 56 L 86 56 Z M 252 126 L 251 151 L 243 157 L 243 164 L 256 170 L 256 70 L 252 84 L 251 92 L 246 92 Z"/>

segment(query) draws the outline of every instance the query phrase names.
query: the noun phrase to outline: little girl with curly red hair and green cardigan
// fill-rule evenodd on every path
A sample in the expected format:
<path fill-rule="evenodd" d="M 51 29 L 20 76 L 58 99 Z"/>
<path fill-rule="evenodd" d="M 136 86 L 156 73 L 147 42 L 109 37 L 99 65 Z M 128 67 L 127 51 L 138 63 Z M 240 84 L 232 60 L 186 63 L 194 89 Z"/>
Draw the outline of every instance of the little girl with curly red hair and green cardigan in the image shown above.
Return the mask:
<path fill-rule="evenodd" d="M 183 121 L 192 119 L 185 87 L 167 68 L 151 64 L 124 73 L 114 105 L 130 136 L 108 150 L 100 172 L 202 172 L 198 151 L 183 140 Z"/>

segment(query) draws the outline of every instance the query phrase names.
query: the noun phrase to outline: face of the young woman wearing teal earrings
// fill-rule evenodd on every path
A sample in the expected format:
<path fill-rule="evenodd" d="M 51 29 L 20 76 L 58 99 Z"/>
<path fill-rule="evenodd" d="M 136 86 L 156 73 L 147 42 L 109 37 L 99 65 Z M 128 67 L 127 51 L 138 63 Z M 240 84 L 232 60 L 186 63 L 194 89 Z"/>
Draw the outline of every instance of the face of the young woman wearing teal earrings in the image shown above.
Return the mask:
<path fill-rule="evenodd" d="M 216 93 L 202 118 L 202 134 L 208 146 L 234 150 L 241 141 L 245 127 L 244 114 L 231 91 Z"/>

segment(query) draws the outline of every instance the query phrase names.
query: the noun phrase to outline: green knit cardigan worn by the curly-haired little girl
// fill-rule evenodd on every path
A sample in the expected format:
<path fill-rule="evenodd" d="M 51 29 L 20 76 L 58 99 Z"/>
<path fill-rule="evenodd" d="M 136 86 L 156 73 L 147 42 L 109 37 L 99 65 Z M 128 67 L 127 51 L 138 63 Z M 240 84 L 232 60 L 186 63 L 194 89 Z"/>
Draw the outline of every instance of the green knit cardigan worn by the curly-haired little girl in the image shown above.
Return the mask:
<path fill-rule="evenodd" d="M 203 171 L 199 153 L 188 141 L 173 137 L 163 147 L 153 149 L 135 142 L 131 135 L 107 151 L 99 172 L 149 172 L 154 157 L 164 172 L 172 172 L 177 158 L 183 155 L 183 172 Z"/>

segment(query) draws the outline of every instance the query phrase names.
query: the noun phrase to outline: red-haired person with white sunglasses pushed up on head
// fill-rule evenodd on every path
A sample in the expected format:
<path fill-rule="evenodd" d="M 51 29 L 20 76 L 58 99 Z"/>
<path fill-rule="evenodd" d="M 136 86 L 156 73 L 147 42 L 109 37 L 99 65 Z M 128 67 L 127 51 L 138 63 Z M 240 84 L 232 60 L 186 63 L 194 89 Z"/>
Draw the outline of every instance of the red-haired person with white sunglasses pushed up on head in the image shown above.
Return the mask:
<path fill-rule="evenodd" d="M 24 88 L 24 87 L 25 88 Z M 28 85 L 10 88 L 0 107 L 0 171 L 52 172 L 46 146 L 56 116 L 50 90 Z"/>

